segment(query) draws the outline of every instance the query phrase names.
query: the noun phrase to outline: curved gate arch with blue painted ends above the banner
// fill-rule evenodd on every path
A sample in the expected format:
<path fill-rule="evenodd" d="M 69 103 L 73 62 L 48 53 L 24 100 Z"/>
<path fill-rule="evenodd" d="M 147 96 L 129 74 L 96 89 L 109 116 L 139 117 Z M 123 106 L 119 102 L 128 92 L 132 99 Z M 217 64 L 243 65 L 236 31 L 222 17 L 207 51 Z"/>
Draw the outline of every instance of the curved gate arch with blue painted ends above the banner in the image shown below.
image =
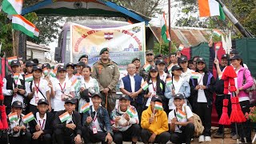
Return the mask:
<path fill-rule="evenodd" d="M 150 21 L 145 15 L 106 0 L 44 0 L 22 9 L 22 15 L 32 11 L 38 15 L 122 17 L 146 24 Z"/>

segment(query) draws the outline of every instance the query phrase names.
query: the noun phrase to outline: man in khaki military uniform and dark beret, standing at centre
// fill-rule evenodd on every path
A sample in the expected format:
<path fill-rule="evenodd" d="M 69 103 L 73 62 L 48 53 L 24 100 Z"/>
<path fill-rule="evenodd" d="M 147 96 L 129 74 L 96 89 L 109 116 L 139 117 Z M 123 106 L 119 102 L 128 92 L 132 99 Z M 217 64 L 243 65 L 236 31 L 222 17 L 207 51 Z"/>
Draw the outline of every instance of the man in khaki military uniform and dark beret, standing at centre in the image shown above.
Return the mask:
<path fill-rule="evenodd" d="M 100 59 L 94 63 L 92 77 L 98 80 L 99 90 L 102 93 L 102 106 L 105 106 L 110 114 L 114 110 L 116 101 L 116 86 L 120 72 L 118 65 L 110 59 L 109 49 L 103 48 Z"/>

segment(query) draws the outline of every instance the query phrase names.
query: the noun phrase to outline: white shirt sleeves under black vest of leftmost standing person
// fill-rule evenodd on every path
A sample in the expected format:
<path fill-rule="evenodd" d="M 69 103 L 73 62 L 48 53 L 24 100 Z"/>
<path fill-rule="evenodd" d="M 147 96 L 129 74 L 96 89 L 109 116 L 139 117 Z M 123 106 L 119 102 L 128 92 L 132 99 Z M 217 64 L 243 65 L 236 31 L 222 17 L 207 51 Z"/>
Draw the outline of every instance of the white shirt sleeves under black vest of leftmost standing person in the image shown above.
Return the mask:
<path fill-rule="evenodd" d="M 2 78 L 2 82 L 3 82 L 3 87 L 2 87 L 2 94 L 4 96 L 11 96 L 13 95 L 12 94 L 12 90 L 14 90 L 14 83 L 13 83 L 13 87 L 12 87 L 12 90 L 7 90 L 6 89 L 6 84 L 7 84 L 7 80 L 6 78 Z M 20 94 L 16 94 L 15 96 L 13 96 L 13 100 L 11 101 L 11 104 L 13 104 L 13 102 L 15 101 L 19 101 L 19 102 L 22 102 L 23 103 L 23 96 L 20 95 Z"/>

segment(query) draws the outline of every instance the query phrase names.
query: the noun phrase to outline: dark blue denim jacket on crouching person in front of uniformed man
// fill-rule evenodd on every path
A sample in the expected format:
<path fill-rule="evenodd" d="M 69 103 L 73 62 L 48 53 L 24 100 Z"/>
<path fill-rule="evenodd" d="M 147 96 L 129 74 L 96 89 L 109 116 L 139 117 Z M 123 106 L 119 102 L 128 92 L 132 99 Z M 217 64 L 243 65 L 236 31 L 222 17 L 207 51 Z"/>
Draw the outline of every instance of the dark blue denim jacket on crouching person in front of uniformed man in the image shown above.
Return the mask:
<path fill-rule="evenodd" d="M 89 116 L 91 116 L 91 118 L 94 118 L 95 116 L 92 106 L 90 106 L 90 110 L 86 111 L 86 113 L 83 114 L 83 119 L 82 119 L 83 126 L 89 126 L 89 127 L 92 126 L 92 122 L 90 122 L 90 124 L 86 123 L 86 118 Z M 113 135 L 111 124 L 110 124 L 110 117 L 107 110 L 104 107 L 102 106 L 98 107 L 97 118 L 98 118 L 99 126 L 101 127 L 102 131 Z"/>

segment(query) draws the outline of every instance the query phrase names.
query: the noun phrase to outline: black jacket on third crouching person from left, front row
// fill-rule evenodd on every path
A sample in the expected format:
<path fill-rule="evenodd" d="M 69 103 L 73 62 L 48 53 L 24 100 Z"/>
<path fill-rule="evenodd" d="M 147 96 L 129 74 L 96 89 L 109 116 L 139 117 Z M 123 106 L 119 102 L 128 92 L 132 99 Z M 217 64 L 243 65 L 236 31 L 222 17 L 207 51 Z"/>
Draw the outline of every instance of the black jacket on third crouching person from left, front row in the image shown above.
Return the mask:
<path fill-rule="evenodd" d="M 66 110 L 61 110 L 55 114 L 54 129 L 63 129 L 64 130 L 66 128 L 66 121 L 61 122 L 61 120 L 58 118 L 60 115 L 64 114 L 65 112 L 66 112 Z M 76 126 L 76 128 L 74 129 L 74 133 L 82 135 L 81 116 L 77 111 L 73 111 L 72 121 L 74 122 L 74 125 Z"/>

